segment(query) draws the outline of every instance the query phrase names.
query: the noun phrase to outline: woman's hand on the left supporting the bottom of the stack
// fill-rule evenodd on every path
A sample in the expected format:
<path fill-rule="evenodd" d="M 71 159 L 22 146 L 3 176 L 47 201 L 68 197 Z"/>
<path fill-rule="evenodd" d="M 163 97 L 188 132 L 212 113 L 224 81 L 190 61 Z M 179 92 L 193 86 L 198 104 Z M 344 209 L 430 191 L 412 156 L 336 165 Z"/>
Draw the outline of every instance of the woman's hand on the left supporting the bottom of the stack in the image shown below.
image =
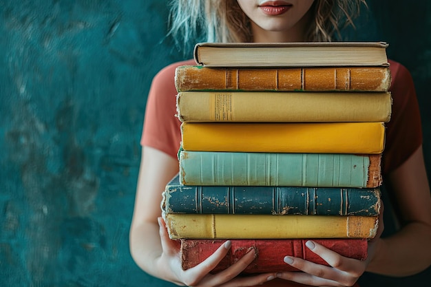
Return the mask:
<path fill-rule="evenodd" d="M 266 281 L 275 278 L 275 273 L 262 273 L 260 275 L 249 277 L 238 277 L 238 275 L 255 259 L 256 253 L 251 249 L 249 253 L 244 255 L 238 262 L 229 268 L 222 270 L 220 273 L 211 274 L 211 270 L 223 259 L 229 251 L 231 242 L 228 240 L 220 246 L 210 257 L 204 262 L 188 270 L 181 268 L 180 246 L 178 242 L 169 239 L 165 222 L 161 217 L 158 218 L 160 226 L 160 239 L 162 241 L 162 255 L 159 257 L 156 264 L 160 270 L 165 269 L 166 278 L 180 286 L 220 286 L 220 287 L 240 287 L 240 286 L 255 286 L 263 284 Z"/>

